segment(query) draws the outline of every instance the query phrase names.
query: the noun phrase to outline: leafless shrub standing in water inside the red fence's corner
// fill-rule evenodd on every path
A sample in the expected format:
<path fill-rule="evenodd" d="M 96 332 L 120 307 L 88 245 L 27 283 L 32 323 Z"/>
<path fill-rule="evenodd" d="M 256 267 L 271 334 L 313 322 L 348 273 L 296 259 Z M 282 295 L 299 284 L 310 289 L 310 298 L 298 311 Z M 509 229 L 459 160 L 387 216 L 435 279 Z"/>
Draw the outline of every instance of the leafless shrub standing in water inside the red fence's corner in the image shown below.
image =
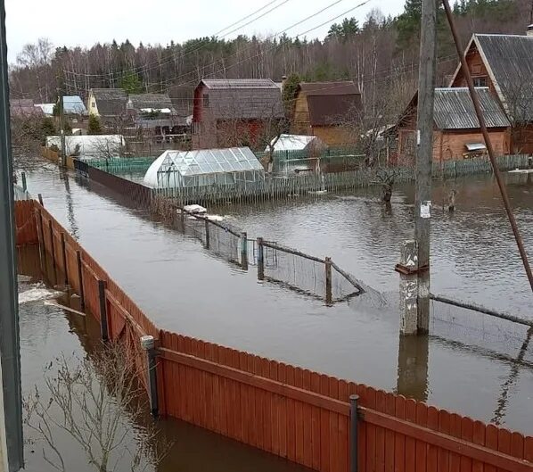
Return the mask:
<path fill-rule="evenodd" d="M 102 346 L 84 359 L 61 356 L 51 362 L 45 391 L 36 386 L 24 399 L 24 425 L 31 441 L 42 446 L 45 462 L 60 472 L 73 470 L 60 440 L 67 435 L 96 472 L 157 467 L 169 444 L 146 424 L 146 393 L 137 372 L 127 343 Z"/>

